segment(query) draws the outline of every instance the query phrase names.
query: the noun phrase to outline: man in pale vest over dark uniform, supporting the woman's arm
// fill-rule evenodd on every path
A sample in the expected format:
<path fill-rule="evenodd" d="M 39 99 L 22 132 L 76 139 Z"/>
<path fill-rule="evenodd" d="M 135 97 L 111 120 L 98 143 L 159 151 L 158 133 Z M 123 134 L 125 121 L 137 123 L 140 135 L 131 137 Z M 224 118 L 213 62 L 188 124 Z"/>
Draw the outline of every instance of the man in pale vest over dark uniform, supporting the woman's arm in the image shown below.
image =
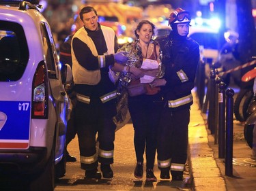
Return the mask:
<path fill-rule="evenodd" d="M 118 50 L 115 32 L 98 23 L 94 7 L 83 7 L 79 16 L 84 27 L 74 34 L 71 52 L 81 169 L 85 169 L 86 178 L 100 179 L 97 168 L 100 162 L 103 177 L 112 178 L 117 88 L 110 80 L 109 71 L 118 63 L 126 63 L 128 58 L 124 52 L 115 53 Z"/>

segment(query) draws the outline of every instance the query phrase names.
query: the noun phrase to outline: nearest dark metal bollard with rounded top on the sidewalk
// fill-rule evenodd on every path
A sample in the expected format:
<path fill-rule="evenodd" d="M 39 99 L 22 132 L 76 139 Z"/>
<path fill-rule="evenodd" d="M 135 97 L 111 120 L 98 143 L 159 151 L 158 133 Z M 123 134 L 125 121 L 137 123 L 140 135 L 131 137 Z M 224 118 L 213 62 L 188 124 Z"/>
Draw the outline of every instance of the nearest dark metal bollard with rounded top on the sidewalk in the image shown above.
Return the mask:
<path fill-rule="evenodd" d="M 226 157 L 225 175 L 233 176 L 233 95 L 232 89 L 227 89 L 227 112 L 226 112 Z"/>

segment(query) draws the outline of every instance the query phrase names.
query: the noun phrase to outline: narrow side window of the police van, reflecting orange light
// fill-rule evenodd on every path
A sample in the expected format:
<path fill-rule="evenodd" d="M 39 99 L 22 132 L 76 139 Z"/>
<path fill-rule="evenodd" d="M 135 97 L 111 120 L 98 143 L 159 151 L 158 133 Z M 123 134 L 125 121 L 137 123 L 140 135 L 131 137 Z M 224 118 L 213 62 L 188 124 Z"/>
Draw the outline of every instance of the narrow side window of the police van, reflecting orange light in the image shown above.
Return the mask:
<path fill-rule="evenodd" d="M 57 62 L 55 57 L 55 46 L 54 41 L 49 37 L 46 24 L 44 22 L 41 23 L 41 33 L 42 33 L 42 42 L 43 42 L 43 48 L 44 48 L 44 58 L 48 69 L 48 76 L 50 78 L 57 78 L 56 68 L 57 68 Z"/>

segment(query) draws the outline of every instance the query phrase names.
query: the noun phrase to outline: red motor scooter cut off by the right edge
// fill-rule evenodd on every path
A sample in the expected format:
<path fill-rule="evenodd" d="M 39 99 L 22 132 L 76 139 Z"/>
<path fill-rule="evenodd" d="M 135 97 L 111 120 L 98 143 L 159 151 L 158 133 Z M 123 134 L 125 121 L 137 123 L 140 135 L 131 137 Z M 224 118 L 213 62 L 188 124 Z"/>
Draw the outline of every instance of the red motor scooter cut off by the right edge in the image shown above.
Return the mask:
<path fill-rule="evenodd" d="M 254 148 L 256 147 L 256 131 L 253 131 L 256 124 L 256 67 L 242 76 L 242 82 L 249 82 L 251 80 L 254 80 L 253 99 L 249 103 L 246 111 L 248 118 L 246 118 L 244 124 L 244 138 L 248 145 L 256 150 L 256 148 Z"/>

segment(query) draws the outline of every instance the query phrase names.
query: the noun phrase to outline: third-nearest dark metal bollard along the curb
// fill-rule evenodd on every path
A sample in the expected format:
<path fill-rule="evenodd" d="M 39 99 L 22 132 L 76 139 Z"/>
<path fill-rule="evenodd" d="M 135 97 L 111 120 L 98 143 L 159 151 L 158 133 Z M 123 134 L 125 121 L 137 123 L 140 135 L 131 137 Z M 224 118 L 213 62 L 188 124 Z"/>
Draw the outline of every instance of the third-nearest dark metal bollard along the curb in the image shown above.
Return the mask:
<path fill-rule="evenodd" d="M 208 112 L 208 128 L 210 128 L 211 134 L 214 134 L 214 122 L 215 122 L 215 109 L 216 109 L 216 102 L 215 102 L 215 95 L 216 95 L 216 82 L 215 82 L 215 71 L 214 69 L 211 70 L 210 81 L 209 81 L 209 112 Z"/>

